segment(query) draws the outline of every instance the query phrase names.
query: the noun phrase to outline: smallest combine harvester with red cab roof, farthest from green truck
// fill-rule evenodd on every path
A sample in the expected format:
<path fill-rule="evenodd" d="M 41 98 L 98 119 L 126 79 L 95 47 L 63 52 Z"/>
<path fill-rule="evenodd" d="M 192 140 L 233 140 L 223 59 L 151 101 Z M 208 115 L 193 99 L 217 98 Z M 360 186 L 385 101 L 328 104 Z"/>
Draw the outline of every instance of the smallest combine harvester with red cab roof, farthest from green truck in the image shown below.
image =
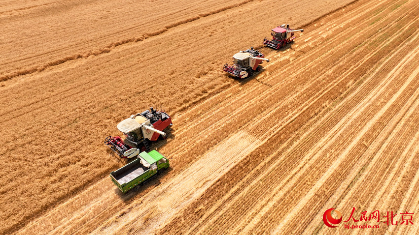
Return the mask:
<path fill-rule="evenodd" d="M 279 49 L 286 46 L 287 43 L 294 41 L 294 32 L 298 31 L 304 32 L 304 29 L 290 29 L 289 25 L 286 25 L 286 27 L 285 25 L 278 26 L 277 28 L 272 29 L 272 41 L 265 37 L 263 39 L 263 44 L 274 49 Z"/>

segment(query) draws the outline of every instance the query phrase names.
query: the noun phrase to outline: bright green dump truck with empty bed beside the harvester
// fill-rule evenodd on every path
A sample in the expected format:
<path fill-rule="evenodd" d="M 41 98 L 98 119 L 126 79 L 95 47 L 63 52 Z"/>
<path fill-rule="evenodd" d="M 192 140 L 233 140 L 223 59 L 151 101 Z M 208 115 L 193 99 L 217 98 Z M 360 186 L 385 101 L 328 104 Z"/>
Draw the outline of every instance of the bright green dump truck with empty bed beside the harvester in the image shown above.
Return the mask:
<path fill-rule="evenodd" d="M 162 168 L 169 167 L 169 160 L 160 152 L 152 150 L 141 152 L 138 158 L 118 170 L 110 173 L 113 183 L 123 192 L 157 174 Z"/>

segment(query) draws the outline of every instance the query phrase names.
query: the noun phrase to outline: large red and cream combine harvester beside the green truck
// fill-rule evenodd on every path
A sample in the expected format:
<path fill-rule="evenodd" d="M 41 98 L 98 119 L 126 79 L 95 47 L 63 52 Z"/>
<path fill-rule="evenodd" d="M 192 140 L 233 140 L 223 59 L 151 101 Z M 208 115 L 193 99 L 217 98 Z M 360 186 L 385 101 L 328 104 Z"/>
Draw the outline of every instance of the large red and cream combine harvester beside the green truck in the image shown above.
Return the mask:
<path fill-rule="evenodd" d="M 108 136 L 105 145 L 110 147 L 121 158 L 132 158 L 140 152 L 150 150 L 150 141 L 156 141 L 160 136 L 166 138 L 163 132 L 172 125 L 172 118 L 165 112 L 146 110 L 141 114 L 132 115 L 121 121 L 116 127 L 124 133 L 125 140 L 119 136 Z"/>

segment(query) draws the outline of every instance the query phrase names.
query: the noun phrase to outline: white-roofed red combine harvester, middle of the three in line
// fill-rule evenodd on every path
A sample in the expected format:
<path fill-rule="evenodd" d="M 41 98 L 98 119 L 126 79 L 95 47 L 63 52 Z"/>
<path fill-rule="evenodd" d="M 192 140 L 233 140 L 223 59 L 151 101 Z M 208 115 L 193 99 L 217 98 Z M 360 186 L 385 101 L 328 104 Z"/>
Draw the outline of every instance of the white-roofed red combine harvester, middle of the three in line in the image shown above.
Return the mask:
<path fill-rule="evenodd" d="M 253 50 L 253 47 L 246 51 L 240 51 L 233 56 L 234 65 L 230 66 L 224 64 L 224 71 L 241 79 L 248 78 L 253 75 L 253 72 L 259 72 L 263 60 L 269 62 L 269 59 L 265 59 L 265 55 L 257 50 Z"/>

